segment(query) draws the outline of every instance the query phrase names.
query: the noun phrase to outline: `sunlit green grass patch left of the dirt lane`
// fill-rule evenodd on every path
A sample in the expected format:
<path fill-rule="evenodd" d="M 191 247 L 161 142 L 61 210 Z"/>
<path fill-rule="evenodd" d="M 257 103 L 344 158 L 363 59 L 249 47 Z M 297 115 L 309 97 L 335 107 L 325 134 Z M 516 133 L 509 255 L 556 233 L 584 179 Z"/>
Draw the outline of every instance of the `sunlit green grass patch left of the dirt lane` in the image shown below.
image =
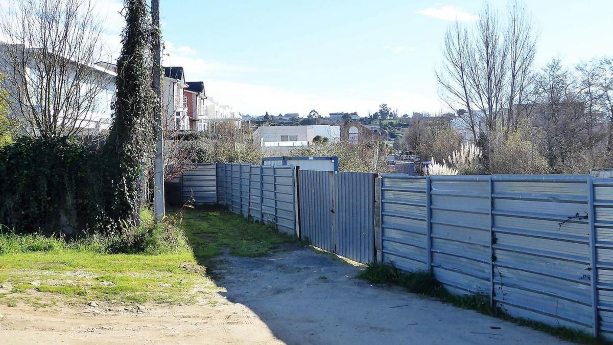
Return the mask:
<path fill-rule="evenodd" d="M 62 265 L 55 263 L 61 262 Z M 220 290 L 191 252 L 161 255 L 97 254 L 61 250 L 0 255 L 0 284 L 10 284 L 1 300 L 34 305 L 32 291 L 61 295 L 68 304 L 88 301 L 191 303 L 194 287 Z M 37 282 L 36 285 L 32 282 Z M 104 283 L 104 284 L 103 284 Z M 39 285 L 40 284 L 40 285 Z M 42 304 L 39 303 L 39 304 Z"/>

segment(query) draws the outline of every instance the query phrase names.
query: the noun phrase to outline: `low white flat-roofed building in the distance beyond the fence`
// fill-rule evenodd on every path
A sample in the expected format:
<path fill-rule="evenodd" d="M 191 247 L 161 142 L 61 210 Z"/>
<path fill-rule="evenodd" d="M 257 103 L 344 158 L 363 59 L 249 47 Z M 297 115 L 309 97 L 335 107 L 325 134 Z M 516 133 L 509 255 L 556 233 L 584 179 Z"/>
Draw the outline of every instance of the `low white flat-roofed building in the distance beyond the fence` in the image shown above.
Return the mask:
<path fill-rule="evenodd" d="M 289 151 L 313 144 L 313 138 L 328 138 L 330 143 L 340 141 L 340 127 L 314 126 L 260 126 L 253 133 L 256 147 L 265 155 L 286 155 Z"/>

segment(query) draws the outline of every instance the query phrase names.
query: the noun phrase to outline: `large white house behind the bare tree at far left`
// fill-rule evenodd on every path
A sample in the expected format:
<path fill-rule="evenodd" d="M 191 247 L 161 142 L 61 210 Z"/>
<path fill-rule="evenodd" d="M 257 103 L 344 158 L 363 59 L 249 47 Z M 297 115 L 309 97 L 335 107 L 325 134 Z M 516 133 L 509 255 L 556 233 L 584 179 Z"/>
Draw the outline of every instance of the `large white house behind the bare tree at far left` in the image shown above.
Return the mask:
<path fill-rule="evenodd" d="M 18 59 L 10 58 L 16 54 Z M 42 61 L 50 61 L 50 58 L 58 60 L 57 71 L 44 68 L 48 64 Z M 23 70 L 27 77 L 18 72 Z M 17 121 L 25 121 L 26 116 L 55 118 L 58 124 L 66 121 L 67 127 L 74 127 L 73 133 L 77 136 L 98 136 L 109 130 L 117 76 L 113 64 L 83 63 L 41 48 L 0 42 L 0 72 L 5 76 L 0 88 L 7 91 L 9 118 Z M 23 82 L 15 83 L 15 80 Z M 71 90 L 56 95 L 54 90 L 61 87 L 70 87 Z M 76 88 L 80 95 L 75 94 Z M 72 99 L 71 107 L 58 106 L 60 103 L 64 105 L 67 93 L 71 95 L 68 96 Z M 25 133 L 36 131 L 29 128 L 28 125 L 21 126 Z"/>

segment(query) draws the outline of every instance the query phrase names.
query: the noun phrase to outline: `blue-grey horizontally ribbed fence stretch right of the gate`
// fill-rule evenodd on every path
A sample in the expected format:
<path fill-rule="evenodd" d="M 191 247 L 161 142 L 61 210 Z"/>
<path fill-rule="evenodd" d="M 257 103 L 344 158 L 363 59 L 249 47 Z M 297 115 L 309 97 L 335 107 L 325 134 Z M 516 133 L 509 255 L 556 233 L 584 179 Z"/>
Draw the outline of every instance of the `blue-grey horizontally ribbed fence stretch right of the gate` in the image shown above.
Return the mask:
<path fill-rule="evenodd" d="M 613 297 L 613 279 L 598 278 L 600 267 L 613 271 L 613 236 L 596 241 L 593 223 L 613 228 L 613 184 L 594 190 L 590 176 L 384 174 L 382 260 L 430 270 L 451 292 L 489 296 L 512 316 L 596 334 L 600 312 L 610 332 L 613 304 L 597 299 Z"/>

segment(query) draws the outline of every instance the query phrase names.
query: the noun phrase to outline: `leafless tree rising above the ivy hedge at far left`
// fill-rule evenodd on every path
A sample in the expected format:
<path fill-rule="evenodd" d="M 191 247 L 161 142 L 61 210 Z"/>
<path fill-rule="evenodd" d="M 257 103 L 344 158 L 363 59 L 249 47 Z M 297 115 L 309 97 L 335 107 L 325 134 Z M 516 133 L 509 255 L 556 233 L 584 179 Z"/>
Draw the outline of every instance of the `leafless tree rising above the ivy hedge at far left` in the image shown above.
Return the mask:
<path fill-rule="evenodd" d="M 82 134 L 93 126 L 93 114 L 106 112 L 113 83 L 112 74 L 94 65 L 102 42 L 93 3 L 16 0 L 5 12 L 0 57 L 20 133 Z"/>

